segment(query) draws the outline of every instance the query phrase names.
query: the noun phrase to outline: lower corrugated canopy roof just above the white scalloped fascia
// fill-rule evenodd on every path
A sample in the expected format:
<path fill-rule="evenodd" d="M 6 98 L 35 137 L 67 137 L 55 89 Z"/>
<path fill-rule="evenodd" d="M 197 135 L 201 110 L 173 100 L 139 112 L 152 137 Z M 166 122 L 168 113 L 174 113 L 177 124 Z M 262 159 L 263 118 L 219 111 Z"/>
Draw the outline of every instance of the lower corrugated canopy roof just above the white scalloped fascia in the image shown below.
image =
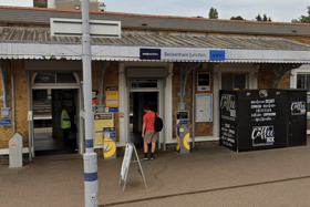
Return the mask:
<path fill-rule="evenodd" d="M 50 37 L 48 29 L 1 28 L 0 42 L 71 43 L 80 44 L 81 38 Z M 250 50 L 294 50 L 309 51 L 310 45 L 281 38 L 252 38 L 231 35 L 198 35 L 176 33 L 123 32 L 121 39 L 92 38 L 93 44 L 209 48 L 209 49 L 250 49 Z"/>

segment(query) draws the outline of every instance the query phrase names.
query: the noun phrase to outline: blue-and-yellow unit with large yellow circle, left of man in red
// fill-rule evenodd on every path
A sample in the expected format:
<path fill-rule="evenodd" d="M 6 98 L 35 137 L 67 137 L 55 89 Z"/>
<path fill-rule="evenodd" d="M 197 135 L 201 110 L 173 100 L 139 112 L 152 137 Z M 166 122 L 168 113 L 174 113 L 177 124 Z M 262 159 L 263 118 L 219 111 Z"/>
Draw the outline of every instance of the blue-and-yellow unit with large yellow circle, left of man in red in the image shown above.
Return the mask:
<path fill-rule="evenodd" d="M 116 158 L 116 128 L 103 128 L 103 157 L 106 159 Z"/>

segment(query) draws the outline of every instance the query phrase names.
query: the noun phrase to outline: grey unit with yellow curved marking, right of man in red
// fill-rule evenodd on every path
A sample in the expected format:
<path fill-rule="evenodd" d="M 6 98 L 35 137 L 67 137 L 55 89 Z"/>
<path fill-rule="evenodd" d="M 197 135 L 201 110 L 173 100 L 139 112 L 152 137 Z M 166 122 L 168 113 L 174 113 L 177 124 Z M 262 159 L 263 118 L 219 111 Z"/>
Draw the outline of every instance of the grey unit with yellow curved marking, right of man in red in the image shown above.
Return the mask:
<path fill-rule="evenodd" d="M 188 143 L 189 139 L 189 130 L 184 124 L 178 124 L 176 128 L 177 145 L 176 151 L 180 154 L 189 153 L 190 146 Z"/>

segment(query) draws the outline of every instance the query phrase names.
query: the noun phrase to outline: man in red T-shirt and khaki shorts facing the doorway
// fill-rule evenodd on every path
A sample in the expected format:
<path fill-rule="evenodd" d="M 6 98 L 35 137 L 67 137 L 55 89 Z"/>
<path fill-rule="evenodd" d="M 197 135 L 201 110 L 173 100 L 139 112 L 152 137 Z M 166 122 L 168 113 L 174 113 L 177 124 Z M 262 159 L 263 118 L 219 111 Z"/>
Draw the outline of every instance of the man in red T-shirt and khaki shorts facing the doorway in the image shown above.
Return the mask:
<path fill-rule="evenodd" d="M 144 141 L 144 157 L 142 161 L 148 161 L 147 152 L 148 152 L 148 144 L 152 143 L 151 148 L 151 156 L 149 159 L 154 159 L 154 153 L 156 148 L 156 143 L 158 139 L 158 132 L 154 128 L 155 122 L 155 112 L 152 112 L 148 105 L 143 107 L 145 115 L 143 116 L 143 126 L 142 126 L 142 137 Z M 157 114 L 158 116 L 158 114 Z"/>

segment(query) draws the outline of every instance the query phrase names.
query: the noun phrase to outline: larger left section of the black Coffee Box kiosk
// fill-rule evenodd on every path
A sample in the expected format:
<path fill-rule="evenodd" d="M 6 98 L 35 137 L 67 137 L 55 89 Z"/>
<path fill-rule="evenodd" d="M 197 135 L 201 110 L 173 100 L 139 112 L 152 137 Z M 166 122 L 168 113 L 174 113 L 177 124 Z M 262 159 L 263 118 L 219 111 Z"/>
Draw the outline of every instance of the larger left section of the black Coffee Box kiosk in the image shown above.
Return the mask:
<path fill-rule="evenodd" d="M 236 152 L 287 145 L 286 92 L 221 91 L 220 144 Z"/>

